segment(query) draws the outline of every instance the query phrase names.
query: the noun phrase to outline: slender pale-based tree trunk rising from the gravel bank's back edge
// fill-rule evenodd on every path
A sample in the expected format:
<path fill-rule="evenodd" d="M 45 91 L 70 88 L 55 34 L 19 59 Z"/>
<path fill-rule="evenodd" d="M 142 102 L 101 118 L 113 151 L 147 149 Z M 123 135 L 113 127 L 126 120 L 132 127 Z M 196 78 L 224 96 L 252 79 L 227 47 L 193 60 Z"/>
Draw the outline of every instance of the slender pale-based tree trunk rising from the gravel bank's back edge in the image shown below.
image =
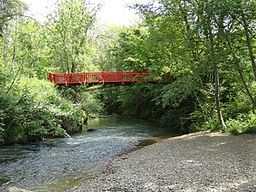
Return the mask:
<path fill-rule="evenodd" d="M 221 125 L 221 130 L 224 132 L 226 130 L 226 125 L 221 113 L 220 101 L 219 101 L 219 77 L 218 77 L 218 65 L 214 53 L 214 39 L 212 35 L 212 29 L 209 29 L 209 38 L 211 44 L 211 61 L 212 61 L 212 70 L 214 74 L 214 84 L 215 84 L 215 107 L 218 113 L 218 122 Z"/>

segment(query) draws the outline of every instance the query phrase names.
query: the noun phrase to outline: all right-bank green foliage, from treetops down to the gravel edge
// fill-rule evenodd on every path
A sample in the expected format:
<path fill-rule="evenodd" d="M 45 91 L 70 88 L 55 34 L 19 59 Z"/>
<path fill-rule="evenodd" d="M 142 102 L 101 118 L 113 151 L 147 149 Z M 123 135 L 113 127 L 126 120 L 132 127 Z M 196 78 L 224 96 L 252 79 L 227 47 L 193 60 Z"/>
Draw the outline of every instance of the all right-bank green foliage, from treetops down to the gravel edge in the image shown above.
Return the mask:
<path fill-rule="evenodd" d="M 107 106 L 117 101 L 115 111 L 132 115 L 141 115 L 142 106 L 145 112 L 151 109 L 148 118 L 154 113 L 162 125 L 181 130 L 185 125 L 190 131 L 225 131 L 230 119 L 247 116 L 256 103 L 255 5 L 218 0 L 137 4 L 143 23 L 119 29 L 116 41 L 102 49 L 106 63 L 145 70 L 161 81 L 169 73 L 172 80 L 146 91 L 132 87 L 112 92 Z"/>

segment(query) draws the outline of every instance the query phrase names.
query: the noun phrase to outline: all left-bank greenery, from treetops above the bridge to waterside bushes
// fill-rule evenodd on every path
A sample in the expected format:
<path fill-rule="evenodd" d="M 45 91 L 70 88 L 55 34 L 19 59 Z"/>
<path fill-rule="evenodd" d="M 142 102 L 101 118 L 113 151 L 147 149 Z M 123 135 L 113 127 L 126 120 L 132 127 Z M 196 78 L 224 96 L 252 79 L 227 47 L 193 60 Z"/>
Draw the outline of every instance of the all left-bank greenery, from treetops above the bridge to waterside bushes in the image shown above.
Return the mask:
<path fill-rule="evenodd" d="M 90 70 L 99 7 L 58 1 L 45 23 L 25 17 L 22 1 L 3 1 L 0 9 L 0 143 L 68 137 L 82 130 L 89 115 L 103 113 L 98 94 L 64 96 L 45 81 L 47 73 Z"/>

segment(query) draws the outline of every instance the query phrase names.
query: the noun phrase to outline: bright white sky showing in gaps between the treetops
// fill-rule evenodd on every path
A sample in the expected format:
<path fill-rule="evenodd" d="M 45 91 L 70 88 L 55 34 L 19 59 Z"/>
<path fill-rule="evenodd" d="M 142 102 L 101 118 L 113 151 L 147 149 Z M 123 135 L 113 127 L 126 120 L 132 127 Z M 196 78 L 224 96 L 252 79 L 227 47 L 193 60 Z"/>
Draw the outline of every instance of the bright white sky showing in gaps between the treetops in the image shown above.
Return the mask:
<path fill-rule="evenodd" d="M 30 12 L 37 20 L 44 21 L 45 15 L 54 9 L 55 0 L 23 0 L 30 5 Z M 127 8 L 127 4 L 143 3 L 150 0 L 90 0 L 90 3 L 102 3 L 102 9 L 98 13 L 99 22 L 102 24 L 114 24 L 129 26 L 139 17 L 134 10 Z"/>

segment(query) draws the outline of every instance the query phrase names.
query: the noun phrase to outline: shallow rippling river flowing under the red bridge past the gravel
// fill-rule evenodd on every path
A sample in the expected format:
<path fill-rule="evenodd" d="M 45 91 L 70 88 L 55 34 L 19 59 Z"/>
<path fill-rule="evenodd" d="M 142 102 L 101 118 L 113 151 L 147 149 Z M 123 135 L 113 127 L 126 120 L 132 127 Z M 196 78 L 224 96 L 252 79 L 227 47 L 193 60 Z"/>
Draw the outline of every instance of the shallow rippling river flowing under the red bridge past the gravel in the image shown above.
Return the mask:
<path fill-rule="evenodd" d="M 0 191 L 12 186 L 55 191 L 56 183 L 89 176 L 117 154 L 136 148 L 142 141 L 173 136 L 172 132 L 143 119 L 90 119 L 84 130 L 89 128 L 97 131 L 0 147 Z"/>

